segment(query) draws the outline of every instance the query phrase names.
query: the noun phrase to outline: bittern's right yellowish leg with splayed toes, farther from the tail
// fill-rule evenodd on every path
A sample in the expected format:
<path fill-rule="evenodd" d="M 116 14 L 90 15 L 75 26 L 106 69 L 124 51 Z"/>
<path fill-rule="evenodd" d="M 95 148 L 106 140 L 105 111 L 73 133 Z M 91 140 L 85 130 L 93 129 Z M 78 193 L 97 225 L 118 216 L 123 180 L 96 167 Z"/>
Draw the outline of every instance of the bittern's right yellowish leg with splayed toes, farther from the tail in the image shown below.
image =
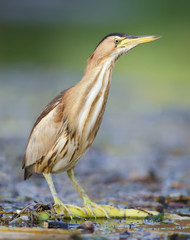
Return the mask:
<path fill-rule="evenodd" d="M 106 210 L 105 210 L 102 206 L 100 206 L 100 205 L 98 205 L 98 204 L 96 204 L 96 203 L 94 203 L 94 202 L 92 202 L 92 201 L 90 200 L 90 198 L 89 198 L 88 195 L 85 193 L 85 191 L 84 191 L 84 189 L 82 188 L 82 186 L 80 185 L 79 181 L 76 179 L 76 177 L 75 177 L 75 175 L 74 175 L 73 169 L 68 170 L 68 171 L 67 171 L 67 174 L 68 174 L 69 178 L 71 179 L 71 182 L 72 182 L 72 183 L 74 184 L 74 186 L 76 187 L 78 193 L 79 193 L 80 196 L 82 197 L 83 202 L 84 202 L 84 206 L 89 209 L 89 211 L 94 215 L 94 217 L 96 217 L 96 215 L 94 214 L 94 212 L 93 212 L 93 210 L 92 210 L 92 207 L 98 208 L 100 211 L 102 211 L 102 212 L 105 214 L 105 217 L 106 217 L 106 218 L 110 218 L 109 215 L 108 215 L 108 213 L 106 212 Z"/>

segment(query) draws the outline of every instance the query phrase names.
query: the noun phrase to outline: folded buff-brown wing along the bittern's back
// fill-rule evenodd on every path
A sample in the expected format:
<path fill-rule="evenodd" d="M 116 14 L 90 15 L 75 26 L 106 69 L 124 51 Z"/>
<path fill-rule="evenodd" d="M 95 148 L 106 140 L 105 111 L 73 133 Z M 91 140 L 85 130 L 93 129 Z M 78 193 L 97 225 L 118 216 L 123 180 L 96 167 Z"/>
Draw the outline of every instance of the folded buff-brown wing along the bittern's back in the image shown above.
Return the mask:
<path fill-rule="evenodd" d="M 31 171 L 27 173 L 27 169 L 47 154 L 61 130 L 63 94 L 64 92 L 61 92 L 47 105 L 34 124 L 22 163 L 22 167 L 25 168 L 25 179 L 32 175 Z"/>

